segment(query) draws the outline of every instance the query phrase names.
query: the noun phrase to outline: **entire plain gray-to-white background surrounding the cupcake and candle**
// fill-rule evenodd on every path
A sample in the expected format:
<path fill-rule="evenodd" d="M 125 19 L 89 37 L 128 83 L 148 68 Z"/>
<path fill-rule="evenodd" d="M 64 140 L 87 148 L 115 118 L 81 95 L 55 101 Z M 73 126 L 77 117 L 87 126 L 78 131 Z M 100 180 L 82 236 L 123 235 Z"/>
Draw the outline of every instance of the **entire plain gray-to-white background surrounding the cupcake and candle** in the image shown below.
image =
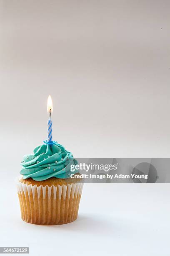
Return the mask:
<path fill-rule="evenodd" d="M 169 0 L 0 0 L 0 246 L 30 255 L 169 256 L 169 184 L 85 184 L 79 218 L 20 219 L 24 154 L 170 157 Z"/>

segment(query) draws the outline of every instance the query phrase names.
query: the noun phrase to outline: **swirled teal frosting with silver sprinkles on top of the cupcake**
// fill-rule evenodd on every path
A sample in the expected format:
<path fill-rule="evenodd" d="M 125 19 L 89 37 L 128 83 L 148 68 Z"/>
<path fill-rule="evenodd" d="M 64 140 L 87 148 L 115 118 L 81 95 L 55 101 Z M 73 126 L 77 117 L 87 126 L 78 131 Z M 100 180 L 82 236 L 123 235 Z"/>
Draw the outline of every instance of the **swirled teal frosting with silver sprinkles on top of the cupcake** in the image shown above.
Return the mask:
<path fill-rule="evenodd" d="M 60 179 L 69 178 L 71 164 L 77 164 L 77 160 L 72 153 L 67 151 L 62 145 L 43 144 L 34 149 L 34 154 L 25 155 L 21 162 L 23 169 L 20 174 L 23 179 L 32 178 L 37 181 L 56 177 Z"/>

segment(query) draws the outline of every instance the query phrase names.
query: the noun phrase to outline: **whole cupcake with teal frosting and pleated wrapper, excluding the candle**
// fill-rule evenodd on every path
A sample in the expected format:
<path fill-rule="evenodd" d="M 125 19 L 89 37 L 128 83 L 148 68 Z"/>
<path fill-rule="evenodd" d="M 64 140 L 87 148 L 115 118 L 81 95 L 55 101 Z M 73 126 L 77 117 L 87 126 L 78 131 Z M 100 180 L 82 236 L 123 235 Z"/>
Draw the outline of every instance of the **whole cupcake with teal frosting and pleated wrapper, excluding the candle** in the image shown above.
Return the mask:
<path fill-rule="evenodd" d="M 70 172 L 77 164 L 58 143 L 43 144 L 25 155 L 17 179 L 21 218 L 32 224 L 59 225 L 77 219 L 83 183 Z M 74 174 L 74 178 L 70 175 Z"/>

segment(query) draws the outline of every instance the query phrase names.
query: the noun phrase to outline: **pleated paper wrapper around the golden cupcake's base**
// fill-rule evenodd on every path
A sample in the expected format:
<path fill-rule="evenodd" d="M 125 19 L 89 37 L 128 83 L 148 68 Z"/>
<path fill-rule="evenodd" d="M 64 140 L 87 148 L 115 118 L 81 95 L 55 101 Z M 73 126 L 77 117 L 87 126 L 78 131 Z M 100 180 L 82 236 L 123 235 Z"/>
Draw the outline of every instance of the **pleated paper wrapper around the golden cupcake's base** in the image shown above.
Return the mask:
<path fill-rule="evenodd" d="M 23 184 L 17 179 L 21 218 L 32 224 L 59 225 L 77 219 L 83 183 L 67 185 Z"/>

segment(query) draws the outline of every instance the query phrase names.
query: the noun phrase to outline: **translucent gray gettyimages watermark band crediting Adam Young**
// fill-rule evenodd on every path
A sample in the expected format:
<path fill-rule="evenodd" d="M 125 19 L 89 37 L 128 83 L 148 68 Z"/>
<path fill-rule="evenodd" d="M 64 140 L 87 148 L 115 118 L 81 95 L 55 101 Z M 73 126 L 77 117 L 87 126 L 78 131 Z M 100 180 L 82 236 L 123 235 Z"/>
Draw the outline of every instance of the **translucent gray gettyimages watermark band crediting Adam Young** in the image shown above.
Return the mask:
<path fill-rule="evenodd" d="M 77 162 L 70 165 L 70 177 L 81 178 L 84 183 L 170 182 L 165 175 L 169 174 L 170 159 L 77 159 Z"/>

